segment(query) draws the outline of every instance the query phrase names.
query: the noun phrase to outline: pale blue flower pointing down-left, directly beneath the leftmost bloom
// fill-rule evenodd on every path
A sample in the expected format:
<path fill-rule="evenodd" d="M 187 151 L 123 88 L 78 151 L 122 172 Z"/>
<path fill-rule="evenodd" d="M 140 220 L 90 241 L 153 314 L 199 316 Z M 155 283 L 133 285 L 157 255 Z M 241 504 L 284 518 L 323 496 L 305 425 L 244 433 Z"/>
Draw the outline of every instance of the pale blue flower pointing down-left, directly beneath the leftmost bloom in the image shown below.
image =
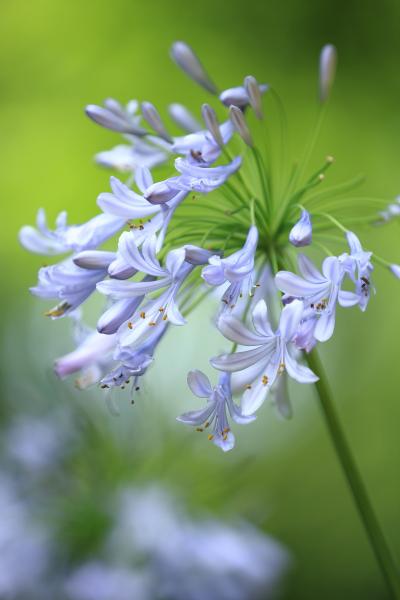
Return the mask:
<path fill-rule="evenodd" d="M 68 258 L 56 265 L 42 267 L 38 274 L 38 285 L 30 288 L 30 291 L 39 298 L 60 300 L 57 306 L 46 313 L 56 319 L 78 308 L 106 274 L 106 269 L 82 269 Z"/>

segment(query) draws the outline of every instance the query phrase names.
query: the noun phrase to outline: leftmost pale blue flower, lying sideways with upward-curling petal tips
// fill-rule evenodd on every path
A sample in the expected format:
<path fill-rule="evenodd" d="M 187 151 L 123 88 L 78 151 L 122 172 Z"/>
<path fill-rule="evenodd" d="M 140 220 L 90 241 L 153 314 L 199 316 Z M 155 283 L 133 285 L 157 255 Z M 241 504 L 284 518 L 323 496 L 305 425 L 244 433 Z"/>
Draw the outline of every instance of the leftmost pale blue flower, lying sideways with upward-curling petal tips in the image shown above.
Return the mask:
<path fill-rule="evenodd" d="M 120 215 L 100 214 L 82 225 L 67 225 L 67 213 L 62 212 L 56 220 L 56 229 L 47 227 L 46 214 L 39 209 L 37 229 L 25 225 L 19 232 L 21 244 L 36 254 L 63 254 L 65 252 L 97 248 L 124 226 Z"/>

